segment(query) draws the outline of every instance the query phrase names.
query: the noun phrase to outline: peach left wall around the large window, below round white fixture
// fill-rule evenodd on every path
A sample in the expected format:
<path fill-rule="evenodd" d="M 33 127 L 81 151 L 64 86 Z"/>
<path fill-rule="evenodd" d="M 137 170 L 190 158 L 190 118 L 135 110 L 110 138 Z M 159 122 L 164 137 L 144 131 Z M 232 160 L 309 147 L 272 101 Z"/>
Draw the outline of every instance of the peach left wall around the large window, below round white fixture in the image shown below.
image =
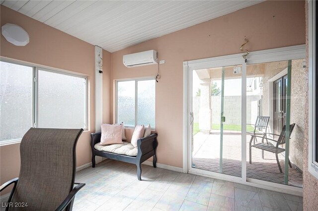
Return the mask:
<path fill-rule="evenodd" d="M 0 55 L 20 61 L 60 68 L 84 74 L 88 78 L 88 131 L 77 145 L 77 166 L 91 160 L 90 133 L 95 128 L 94 109 L 94 46 L 54 29 L 21 13 L 0 6 L 0 25 L 13 23 L 24 28 L 30 43 L 17 47 L 0 37 Z M 110 53 L 103 51 L 103 121 L 109 122 Z M 19 144 L 0 147 L 0 183 L 17 177 L 20 169 Z M 2 193 L 1 193 L 2 194 Z"/>

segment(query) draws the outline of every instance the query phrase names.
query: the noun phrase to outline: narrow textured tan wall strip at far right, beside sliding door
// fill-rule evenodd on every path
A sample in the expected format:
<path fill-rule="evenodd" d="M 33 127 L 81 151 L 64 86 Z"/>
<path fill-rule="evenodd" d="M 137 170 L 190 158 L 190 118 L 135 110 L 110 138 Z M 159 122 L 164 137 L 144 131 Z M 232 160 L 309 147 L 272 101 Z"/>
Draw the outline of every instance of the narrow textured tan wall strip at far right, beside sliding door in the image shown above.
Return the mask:
<path fill-rule="evenodd" d="M 307 64 L 308 64 L 308 2 L 306 1 L 306 46 L 307 46 Z M 316 70 L 317 71 L 317 70 Z M 307 79 L 308 79 L 308 68 L 306 68 Z M 308 83 L 308 80 L 307 80 Z M 306 99 L 308 99 L 308 86 L 306 88 Z M 316 179 L 308 171 L 308 100 L 306 101 L 306 109 L 304 112 L 306 130 L 305 130 L 305 140 L 304 140 L 304 173 L 303 173 L 303 203 L 304 211 L 317 211 L 318 208 L 318 179 Z"/>

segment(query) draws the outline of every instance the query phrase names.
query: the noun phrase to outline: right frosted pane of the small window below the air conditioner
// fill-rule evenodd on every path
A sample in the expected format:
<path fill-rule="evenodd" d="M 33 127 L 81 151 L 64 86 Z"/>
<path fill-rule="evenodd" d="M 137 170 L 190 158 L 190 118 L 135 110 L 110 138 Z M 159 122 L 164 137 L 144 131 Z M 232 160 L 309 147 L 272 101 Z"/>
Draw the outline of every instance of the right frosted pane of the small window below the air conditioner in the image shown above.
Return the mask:
<path fill-rule="evenodd" d="M 137 82 L 137 124 L 155 127 L 155 80 Z"/>

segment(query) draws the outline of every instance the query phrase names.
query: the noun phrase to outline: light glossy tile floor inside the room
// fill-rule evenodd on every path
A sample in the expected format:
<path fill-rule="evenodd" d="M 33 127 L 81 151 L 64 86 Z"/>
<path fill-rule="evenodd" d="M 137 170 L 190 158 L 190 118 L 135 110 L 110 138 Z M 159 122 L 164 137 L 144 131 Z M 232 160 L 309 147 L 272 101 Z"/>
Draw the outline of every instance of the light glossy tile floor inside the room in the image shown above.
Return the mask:
<path fill-rule="evenodd" d="M 104 160 L 77 172 L 74 211 L 302 211 L 303 198 L 222 180 Z"/>

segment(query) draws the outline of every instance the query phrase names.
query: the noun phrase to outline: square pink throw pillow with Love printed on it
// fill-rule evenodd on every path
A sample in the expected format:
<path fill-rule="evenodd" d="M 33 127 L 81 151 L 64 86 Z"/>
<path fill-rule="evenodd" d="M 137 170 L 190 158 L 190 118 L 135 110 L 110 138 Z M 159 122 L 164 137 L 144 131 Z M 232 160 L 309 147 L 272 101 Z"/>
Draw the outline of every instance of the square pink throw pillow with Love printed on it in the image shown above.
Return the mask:
<path fill-rule="evenodd" d="M 99 145 L 122 144 L 123 125 L 101 124 L 101 137 Z"/>

